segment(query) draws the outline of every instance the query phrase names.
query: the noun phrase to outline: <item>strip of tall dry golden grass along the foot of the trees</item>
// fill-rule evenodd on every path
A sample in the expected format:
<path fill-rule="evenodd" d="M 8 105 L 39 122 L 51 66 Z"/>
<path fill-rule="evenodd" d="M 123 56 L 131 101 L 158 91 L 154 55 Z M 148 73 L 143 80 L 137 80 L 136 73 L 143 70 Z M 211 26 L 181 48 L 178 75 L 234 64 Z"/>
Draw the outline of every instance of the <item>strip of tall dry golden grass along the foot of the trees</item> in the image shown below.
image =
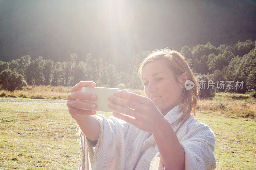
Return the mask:
<path fill-rule="evenodd" d="M 45 86 L 28 85 L 22 90 L 8 92 L 0 90 L 2 100 L 67 100 L 71 86 Z M 128 89 L 140 95 L 145 95 L 143 90 Z M 229 92 L 215 93 L 212 99 L 198 100 L 197 111 L 211 113 L 213 115 L 223 115 L 228 117 L 241 117 L 256 121 L 256 93 L 238 94 Z"/>

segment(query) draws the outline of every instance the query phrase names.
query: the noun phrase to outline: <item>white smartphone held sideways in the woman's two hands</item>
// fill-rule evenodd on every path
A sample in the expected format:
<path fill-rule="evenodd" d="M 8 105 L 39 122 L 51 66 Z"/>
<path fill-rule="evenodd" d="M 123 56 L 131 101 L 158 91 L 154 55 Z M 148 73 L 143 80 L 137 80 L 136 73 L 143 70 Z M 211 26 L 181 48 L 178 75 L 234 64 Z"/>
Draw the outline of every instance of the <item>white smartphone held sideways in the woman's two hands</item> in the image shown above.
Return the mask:
<path fill-rule="evenodd" d="M 127 89 L 117 89 L 117 88 L 105 88 L 105 87 L 82 87 L 82 92 L 95 94 L 97 96 L 97 99 L 94 101 L 89 100 L 83 100 L 88 103 L 94 103 L 97 105 L 96 111 L 102 111 L 102 112 L 116 112 L 115 110 L 108 107 L 108 103 L 110 101 L 108 100 L 109 95 L 114 95 L 114 92 L 116 90 L 122 90 L 128 92 Z M 90 109 L 84 109 L 84 110 L 90 110 Z"/>

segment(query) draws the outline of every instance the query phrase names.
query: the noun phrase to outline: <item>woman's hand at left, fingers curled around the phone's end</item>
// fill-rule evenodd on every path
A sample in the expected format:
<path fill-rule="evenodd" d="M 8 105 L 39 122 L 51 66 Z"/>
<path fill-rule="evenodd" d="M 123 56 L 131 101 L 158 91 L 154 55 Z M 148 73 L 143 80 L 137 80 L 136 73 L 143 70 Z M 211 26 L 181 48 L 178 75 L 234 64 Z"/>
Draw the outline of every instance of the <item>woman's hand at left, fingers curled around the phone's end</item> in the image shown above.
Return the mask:
<path fill-rule="evenodd" d="M 68 94 L 68 112 L 75 120 L 83 120 L 86 115 L 95 115 L 96 105 L 81 100 L 94 101 L 97 99 L 97 96 L 94 94 L 89 94 L 81 92 L 82 87 L 95 87 L 96 83 L 92 81 L 80 81 L 78 84 L 72 87 L 71 93 Z M 83 109 L 90 110 L 83 110 Z M 93 111 L 92 111 L 93 110 Z"/>

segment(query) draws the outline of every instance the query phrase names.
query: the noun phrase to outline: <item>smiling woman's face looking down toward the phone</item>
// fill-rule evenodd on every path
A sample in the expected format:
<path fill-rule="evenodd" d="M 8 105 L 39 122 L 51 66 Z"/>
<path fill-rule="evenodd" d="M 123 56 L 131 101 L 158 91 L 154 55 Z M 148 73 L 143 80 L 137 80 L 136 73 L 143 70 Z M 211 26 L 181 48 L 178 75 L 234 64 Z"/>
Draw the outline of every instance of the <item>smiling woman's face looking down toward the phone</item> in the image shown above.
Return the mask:
<path fill-rule="evenodd" d="M 142 69 L 142 82 L 147 97 L 166 115 L 180 103 L 182 85 L 174 78 L 164 59 L 147 63 Z M 182 78 L 178 78 L 182 81 Z"/>

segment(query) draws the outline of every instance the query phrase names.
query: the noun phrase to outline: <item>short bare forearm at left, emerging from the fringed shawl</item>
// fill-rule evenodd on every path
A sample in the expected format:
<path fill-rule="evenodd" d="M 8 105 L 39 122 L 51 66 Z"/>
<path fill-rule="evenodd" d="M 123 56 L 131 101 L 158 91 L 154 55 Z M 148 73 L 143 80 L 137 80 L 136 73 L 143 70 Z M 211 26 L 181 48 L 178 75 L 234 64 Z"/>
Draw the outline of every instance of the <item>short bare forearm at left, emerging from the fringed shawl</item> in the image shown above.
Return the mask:
<path fill-rule="evenodd" d="M 76 120 L 84 135 L 90 140 L 97 140 L 100 133 L 100 120 L 95 115 L 86 115 L 83 120 Z"/>

